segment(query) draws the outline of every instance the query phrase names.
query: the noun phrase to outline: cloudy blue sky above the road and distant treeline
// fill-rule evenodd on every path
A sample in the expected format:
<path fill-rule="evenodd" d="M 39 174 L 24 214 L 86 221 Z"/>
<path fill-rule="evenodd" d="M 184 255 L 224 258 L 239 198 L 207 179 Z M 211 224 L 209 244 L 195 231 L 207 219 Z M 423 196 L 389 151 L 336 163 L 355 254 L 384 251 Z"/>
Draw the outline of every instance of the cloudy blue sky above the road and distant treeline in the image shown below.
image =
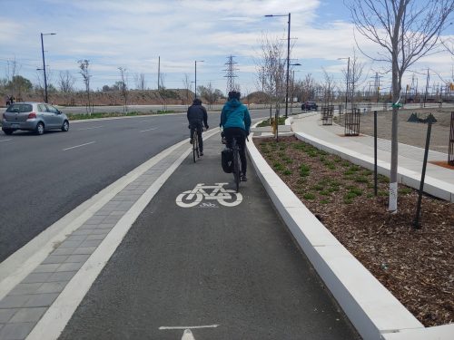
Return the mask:
<path fill-rule="evenodd" d="M 424 0 L 417 0 L 425 3 Z M 346 0 L 349 2 L 349 0 Z M 158 58 L 161 58 L 163 83 L 167 88 L 183 88 L 183 78 L 225 92 L 227 56 L 234 55 L 236 83 L 242 92 L 257 88 L 255 65 L 260 55 L 260 38 L 287 37 L 291 13 L 292 63 L 295 78 L 311 73 L 322 79 L 322 70 L 342 84 L 342 70 L 353 55 L 354 30 L 350 12 L 342 0 L 0 0 L 0 77 L 15 60 L 19 73 L 37 83 L 36 68 L 42 68 L 40 33 L 44 35 L 45 61 L 50 82 L 56 85 L 60 72 L 69 71 L 75 86 L 83 88 L 78 60 L 90 61 L 92 87 L 102 88 L 120 80 L 119 67 L 127 70 L 129 85 L 135 87 L 134 74 L 144 73 L 146 86 L 157 87 Z M 264 15 L 286 15 L 264 17 Z M 449 35 L 450 34 L 450 35 Z M 454 37 L 451 25 L 445 38 Z M 370 53 L 377 46 L 356 34 L 361 48 Z M 360 55 L 364 84 L 369 86 L 382 65 Z M 422 59 L 407 73 L 425 83 L 452 79 L 454 59 L 449 53 L 436 53 Z M 42 72 L 41 72 L 42 73 Z M 383 74 L 382 88 L 389 86 Z"/>

